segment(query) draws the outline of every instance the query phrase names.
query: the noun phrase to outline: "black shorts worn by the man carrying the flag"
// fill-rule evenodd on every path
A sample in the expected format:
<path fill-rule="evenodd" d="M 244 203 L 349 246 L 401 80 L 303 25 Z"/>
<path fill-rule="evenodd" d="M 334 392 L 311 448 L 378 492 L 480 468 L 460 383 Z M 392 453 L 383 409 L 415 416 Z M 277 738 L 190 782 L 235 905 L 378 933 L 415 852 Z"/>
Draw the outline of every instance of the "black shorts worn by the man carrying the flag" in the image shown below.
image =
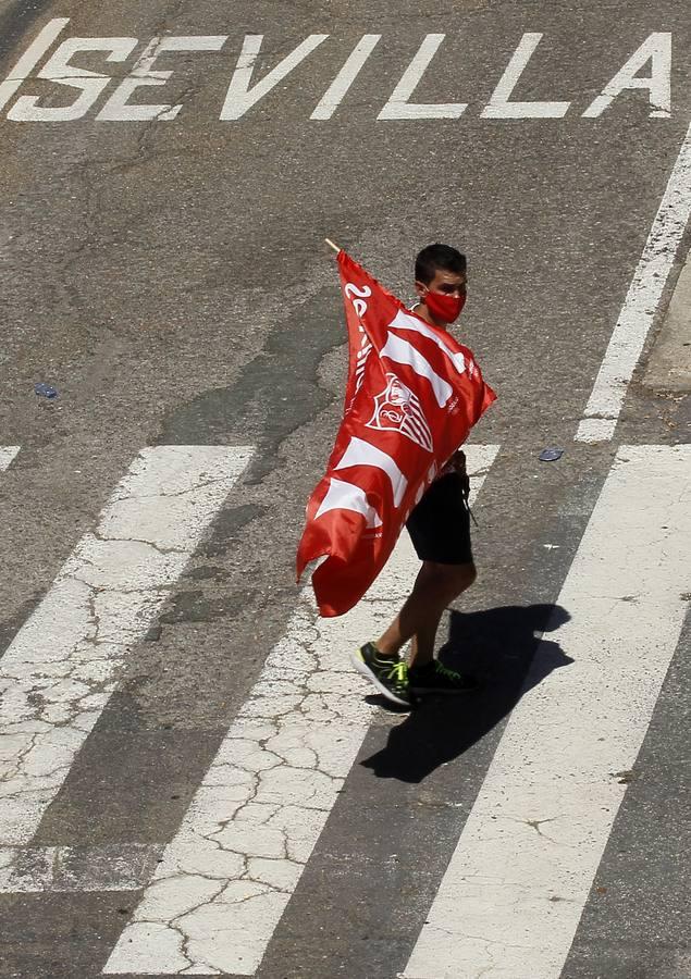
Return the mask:
<path fill-rule="evenodd" d="M 464 503 L 458 473 L 449 472 L 430 485 L 406 526 L 421 561 L 440 565 L 472 561 L 470 512 Z"/>

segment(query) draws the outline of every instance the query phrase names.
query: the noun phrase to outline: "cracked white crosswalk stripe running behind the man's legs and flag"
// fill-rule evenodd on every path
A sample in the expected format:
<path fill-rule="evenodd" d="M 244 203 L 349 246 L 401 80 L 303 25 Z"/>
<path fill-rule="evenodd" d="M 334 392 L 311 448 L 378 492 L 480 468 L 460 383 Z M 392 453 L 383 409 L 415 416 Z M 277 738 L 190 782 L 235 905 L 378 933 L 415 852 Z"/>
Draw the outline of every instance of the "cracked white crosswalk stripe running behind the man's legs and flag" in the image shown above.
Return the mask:
<path fill-rule="evenodd" d="M 471 500 L 497 450 L 466 447 Z M 388 624 L 418 567 L 404 534 L 337 619 L 317 618 L 305 587 L 106 974 L 254 975 L 370 723 L 349 654 Z"/>

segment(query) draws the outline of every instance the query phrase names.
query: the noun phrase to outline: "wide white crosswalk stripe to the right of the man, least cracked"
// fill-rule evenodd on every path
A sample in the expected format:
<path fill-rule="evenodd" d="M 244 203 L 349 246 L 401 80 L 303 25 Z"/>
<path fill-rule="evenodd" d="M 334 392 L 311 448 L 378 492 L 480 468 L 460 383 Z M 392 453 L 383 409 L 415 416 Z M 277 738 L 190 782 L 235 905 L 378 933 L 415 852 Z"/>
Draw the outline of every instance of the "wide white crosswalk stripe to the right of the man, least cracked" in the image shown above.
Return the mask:
<path fill-rule="evenodd" d="M 573 662 L 514 709 L 407 979 L 558 979 L 679 639 L 690 553 L 691 446 L 621 447 L 558 598 L 571 618 L 551 640 Z"/>

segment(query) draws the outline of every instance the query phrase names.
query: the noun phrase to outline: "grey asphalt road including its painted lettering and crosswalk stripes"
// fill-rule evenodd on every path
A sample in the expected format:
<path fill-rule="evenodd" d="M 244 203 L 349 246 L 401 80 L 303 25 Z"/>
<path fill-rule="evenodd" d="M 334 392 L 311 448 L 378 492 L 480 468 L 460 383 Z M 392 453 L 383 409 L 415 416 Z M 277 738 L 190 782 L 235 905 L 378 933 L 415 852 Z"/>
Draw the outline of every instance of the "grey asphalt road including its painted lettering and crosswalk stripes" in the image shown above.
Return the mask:
<path fill-rule="evenodd" d="M 0 975 L 691 977 L 690 51 L 683 0 L 0 2 Z M 485 684 L 410 716 L 348 665 L 406 542 L 343 619 L 294 581 L 324 236 L 406 299 L 461 248 L 498 393 Z"/>

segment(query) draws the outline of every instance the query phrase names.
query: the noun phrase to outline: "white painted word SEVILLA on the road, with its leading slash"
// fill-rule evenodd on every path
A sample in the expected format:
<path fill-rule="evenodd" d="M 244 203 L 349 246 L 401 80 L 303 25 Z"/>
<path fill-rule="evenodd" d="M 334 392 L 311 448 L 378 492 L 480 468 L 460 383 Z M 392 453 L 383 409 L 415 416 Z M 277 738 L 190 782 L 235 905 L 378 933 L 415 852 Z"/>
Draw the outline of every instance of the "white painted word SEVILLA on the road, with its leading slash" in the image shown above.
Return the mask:
<path fill-rule="evenodd" d="M 20 58 L 10 76 L 0 84 L 0 110 L 15 94 L 23 80 L 38 64 L 44 53 L 69 23 L 69 20 L 51 21 L 36 40 Z M 415 103 L 410 99 L 427 73 L 446 34 L 428 34 L 412 60 L 404 70 L 394 92 L 379 113 L 380 120 L 428 120 L 458 119 L 468 108 L 466 102 Z M 181 35 L 180 37 L 152 38 L 145 44 L 129 75 L 120 82 L 99 120 L 113 122 L 149 120 L 170 121 L 177 116 L 181 106 L 139 106 L 131 103 L 128 97 L 143 85 L 164 85 L 171 72 L 153 69 L 153 61 L 164 51 L 219 51 L 230 35 Z M 330 120 L 342 99 L 350 89 L 367 60 L 372 54 L 382 35 L 365 34 L 342 65 L 326 92 L 310 115 L 312 120 Z M 225 102 L 219 116 L 222 121 L 237 121 L 254 106 L 283 82 L 306 58 L 329 38 L 328 34 L 310 34 L 277 65 L 251 85 L 252 74 L 259 59 L 263 35 L 247 34 L 244 37 L 235 72 L 231 78 Z M 514 88 L 531 60 L 543 34 L 528 32 L 511 54 L 491 101 L 480 113 L 482 119 L 560 119 L 569 106 L 568 101 L 509 101 Z M 88 37 L 67 38 L 53 52 L 38 77 L 55 85 L 67 85 L 81 90 L 71 106 L 39 106 L 35 96 L 21 96 L 8 112 L 13 122 L 72 122 L 83 119 L 96 104 L 100 95 L 114 78 L 110 75 L 90 72 L 70 63 L 78 51 L 110 52 L 107 61 L 126 61 L 139 44 L 135 37 Z M 651 61 L 651 75 L 640 77 L 638 72 Z M 671 113 L 671 34 L 651 34 L 631 55 L 627 63 L 607 83 L 581 117 L 596 119 L 624 92 L 631 89 L 647 89 L 651 116 L 667 119 Z M 358 111 L 361 107 L 358 107 Z"/>

